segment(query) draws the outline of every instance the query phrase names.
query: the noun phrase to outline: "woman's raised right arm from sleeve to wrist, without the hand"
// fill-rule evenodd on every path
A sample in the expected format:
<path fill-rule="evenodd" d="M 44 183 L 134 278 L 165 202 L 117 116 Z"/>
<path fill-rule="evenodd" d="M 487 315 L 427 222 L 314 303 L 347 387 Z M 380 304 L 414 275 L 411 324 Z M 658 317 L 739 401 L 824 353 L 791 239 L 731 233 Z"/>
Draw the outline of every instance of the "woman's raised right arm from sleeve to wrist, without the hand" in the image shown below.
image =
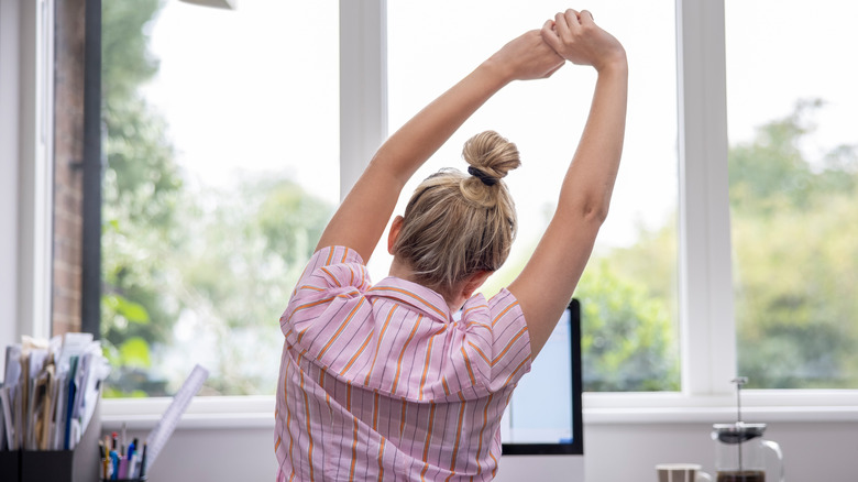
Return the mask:
<path fill-rule="evenodd" d="M 590 117 L 563 179 L 558 209 L 530 261 L 509 285 L 528 320 L 534 355 L 569 303 L 607 215 L 623 151 L 627 78 L 625 62 L 600 72 Z"/>

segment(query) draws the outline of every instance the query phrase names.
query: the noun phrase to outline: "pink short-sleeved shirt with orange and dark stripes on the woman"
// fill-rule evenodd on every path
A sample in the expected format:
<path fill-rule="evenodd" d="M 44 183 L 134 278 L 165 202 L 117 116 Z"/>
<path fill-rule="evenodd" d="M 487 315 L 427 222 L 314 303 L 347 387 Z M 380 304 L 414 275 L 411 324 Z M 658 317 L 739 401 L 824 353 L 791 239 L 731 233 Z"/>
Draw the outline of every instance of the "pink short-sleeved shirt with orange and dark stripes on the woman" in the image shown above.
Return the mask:
<path fill-rule="evenodd" d="M 280 318 L 277 480 L 491 480 L 501 417 L 530 370 L 530 338 L 507 291 L 444 298 L 324 248 Z"/>

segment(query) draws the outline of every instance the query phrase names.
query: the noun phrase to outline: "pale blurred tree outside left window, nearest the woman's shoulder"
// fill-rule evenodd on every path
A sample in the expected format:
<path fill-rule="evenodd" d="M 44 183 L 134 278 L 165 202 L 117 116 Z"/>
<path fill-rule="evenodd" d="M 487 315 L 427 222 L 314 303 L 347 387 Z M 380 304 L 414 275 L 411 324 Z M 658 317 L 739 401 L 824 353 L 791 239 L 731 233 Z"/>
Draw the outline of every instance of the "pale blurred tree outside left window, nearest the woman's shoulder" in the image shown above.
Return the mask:
<path fill-rule="evenodd" d="M 332 207 L 276 178 L 243 180 L 238 193 L 210 189 L 194 197 L 180 217 L 195 237 L 175 253 L 166 286 L 180 300 L 178 322 L 199 333 L 183 350 L 186 362 L 218 354 L 208 360 L 210 391 L 273 393 L 283 344 L 277 318 Z"/>

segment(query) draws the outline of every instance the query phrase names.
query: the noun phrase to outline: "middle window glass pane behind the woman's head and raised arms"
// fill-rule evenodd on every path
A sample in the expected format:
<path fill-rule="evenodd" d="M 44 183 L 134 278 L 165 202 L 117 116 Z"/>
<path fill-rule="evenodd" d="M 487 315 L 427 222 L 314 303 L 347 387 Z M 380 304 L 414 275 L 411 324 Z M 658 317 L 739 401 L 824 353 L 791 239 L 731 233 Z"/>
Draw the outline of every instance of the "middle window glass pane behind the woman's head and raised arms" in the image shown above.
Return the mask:
<path fill-rule="evenodd" d="M 568 2 L 446 0 L 431 7 L 387 3 L 392 132 L 506 42 L 565 10 Z M 575 293 L 583 306 L 585 390 L 679 390 L 674 8 L 672 2 L 629 0 L 594 1 L 587 9 L 625 45 L 631 76 L 612 211 Z M 416 17 L 419 22 L 413 21 Z M 505 180 L 518 208 L 518 239 L 506 265 L 484 286 L 486 295 L 515 277 L 547 226 L 594 80 L 592 69 L 570 65 L 548 80 L 508 86 L 406 187 L 410 194 L 440 167 L 464 169 L 462 144 L 477 132 L 492 129 L 517 144 L 522 166 Z M 398 212 L 404 208 L 403 202 Z M 377 280 L 386 274 L 389 256 L 385 249 L 376 253 L 371 272 Z"/>

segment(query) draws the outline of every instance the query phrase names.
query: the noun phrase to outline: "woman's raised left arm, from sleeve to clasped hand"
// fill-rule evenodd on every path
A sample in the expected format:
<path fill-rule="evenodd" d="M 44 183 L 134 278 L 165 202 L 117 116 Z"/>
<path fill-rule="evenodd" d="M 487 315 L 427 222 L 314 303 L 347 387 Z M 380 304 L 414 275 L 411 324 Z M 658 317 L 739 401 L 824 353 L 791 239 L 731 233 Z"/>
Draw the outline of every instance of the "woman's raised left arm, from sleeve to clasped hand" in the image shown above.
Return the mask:
<path fill-rule="evenodd" d="M 544 78 L 563 65 L 540 31 L 513 40 L 393 134 L 334 213 L 320 248 L 340 244 L 370 260 L 411 175 L 490 97 L 512 80 Z"/>

